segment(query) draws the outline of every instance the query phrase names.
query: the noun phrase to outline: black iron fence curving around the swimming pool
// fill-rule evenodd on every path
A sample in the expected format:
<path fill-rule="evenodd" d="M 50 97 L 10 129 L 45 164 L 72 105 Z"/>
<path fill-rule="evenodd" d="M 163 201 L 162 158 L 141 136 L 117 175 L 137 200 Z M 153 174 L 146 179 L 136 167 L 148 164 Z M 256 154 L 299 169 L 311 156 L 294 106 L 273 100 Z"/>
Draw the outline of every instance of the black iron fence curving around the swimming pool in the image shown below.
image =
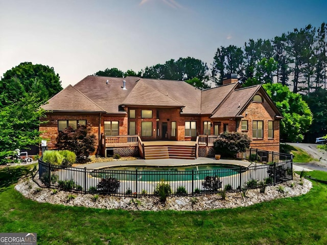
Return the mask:
<path fill-rule="evenodd" d="M 248 157 L 252 155 L 253 150 L 249 151 Z M 273 162 L 257 163 L 258 156 L 261 160 L 265 157 Z M 250 160 L 253 161 L 248 167 L 224 165 L 219 169 L 201 170 L 203 167 L 199 165 L 185 171 L 179 171 L 177 167 L 171 170 L 141 171 L 57 166 L 45 163 L 41 158 L 39 178 L 50 188 L 120 196 L 157 194 L 161 185 L 169 186 L 173 194 L 179 195 L 242 191 L 293 179 L 291 155 L 255 151 L 255 159 Z"/>

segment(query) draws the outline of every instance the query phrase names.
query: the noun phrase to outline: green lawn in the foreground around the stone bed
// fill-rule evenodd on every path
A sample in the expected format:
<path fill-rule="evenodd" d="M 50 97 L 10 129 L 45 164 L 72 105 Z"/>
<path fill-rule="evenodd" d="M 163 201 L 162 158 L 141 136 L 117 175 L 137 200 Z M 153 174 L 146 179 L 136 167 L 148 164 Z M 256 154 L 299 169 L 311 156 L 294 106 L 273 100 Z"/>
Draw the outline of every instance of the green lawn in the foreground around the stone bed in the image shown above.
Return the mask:
<path fill-rule="evenodd" d="M 300 197 L 199 212 L 125 211 L 37 203 L 14 190 L 31 167 L 0 170 L 0 232 L 38 244 L 327 244 L 327 185 Z M 327 173 L 310 175 L 327 180 Z M 3 184 L 4 180 L 4 184 Z"/>

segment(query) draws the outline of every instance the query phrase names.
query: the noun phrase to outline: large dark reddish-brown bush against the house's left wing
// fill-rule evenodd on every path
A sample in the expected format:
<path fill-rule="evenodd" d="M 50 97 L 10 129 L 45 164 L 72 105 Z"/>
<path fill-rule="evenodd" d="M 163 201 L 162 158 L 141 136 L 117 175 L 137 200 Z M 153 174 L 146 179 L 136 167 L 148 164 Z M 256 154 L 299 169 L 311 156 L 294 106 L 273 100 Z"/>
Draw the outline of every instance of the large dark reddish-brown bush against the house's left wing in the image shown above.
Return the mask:
<path fill-rule="evenodd" d="M 78 125 L 77 129 L 68 127 L 59 132 L 56 146 L 60 150 L 69 150 L 76 154 L 77 160 L 87 158 L 95 149 L 96 136 L 91 134 L 91 125 Z"/>

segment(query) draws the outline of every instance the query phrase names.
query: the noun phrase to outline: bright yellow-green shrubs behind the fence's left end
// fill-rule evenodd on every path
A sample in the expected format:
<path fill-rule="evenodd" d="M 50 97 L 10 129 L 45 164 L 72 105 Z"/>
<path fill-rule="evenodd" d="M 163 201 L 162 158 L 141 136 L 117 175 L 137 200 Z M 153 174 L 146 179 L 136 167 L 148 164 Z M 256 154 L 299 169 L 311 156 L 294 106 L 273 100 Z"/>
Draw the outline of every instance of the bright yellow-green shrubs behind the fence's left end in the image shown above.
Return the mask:
<path fill-rule="evenodd" d="M 43 153 L 43 162 L 52 165 L 72 166 L 76 162 L 76 155 L 70 151 L 45 151 Z"/>

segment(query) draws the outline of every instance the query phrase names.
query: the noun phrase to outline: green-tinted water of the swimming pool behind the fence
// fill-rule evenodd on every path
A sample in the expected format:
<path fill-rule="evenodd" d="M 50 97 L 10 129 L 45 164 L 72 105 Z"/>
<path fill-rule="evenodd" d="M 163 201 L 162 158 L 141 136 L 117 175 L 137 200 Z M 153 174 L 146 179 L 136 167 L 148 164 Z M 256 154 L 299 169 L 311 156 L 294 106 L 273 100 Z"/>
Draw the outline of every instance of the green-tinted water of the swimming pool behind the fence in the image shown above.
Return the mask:
<path fill-rule="evenodd" d="M 136 171 L 137 169 L 137 171 Z M 206 176 L 231 176 L 240 173 L 240 166 L 229 164 L 200 164 L 192 166 L 155 167 L 125 166 L 108 167 L 94 171 L 97 178 L 116 178 L 126 181 L 191 181 L 203 180 Z"/>

